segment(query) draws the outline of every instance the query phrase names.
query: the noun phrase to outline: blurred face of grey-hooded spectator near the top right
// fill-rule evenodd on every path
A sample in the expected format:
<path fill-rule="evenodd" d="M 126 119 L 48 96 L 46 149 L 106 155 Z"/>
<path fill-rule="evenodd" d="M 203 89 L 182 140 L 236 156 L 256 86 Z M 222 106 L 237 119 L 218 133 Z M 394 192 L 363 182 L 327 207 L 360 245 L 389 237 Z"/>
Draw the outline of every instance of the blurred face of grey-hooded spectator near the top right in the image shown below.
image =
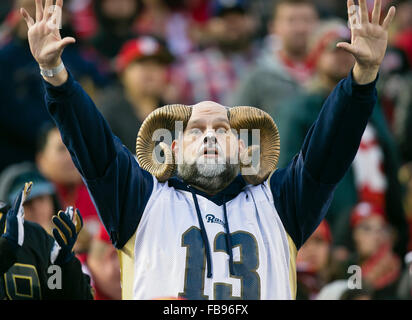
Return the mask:
<path fill-rule="evenodd" d="M 308 39 L 317 21 L 318 15 L 314 7 L 307 4 L 283 4 L 277 8 L 273 33 L 279 37 L 286 53 L 306 54 Z"/>

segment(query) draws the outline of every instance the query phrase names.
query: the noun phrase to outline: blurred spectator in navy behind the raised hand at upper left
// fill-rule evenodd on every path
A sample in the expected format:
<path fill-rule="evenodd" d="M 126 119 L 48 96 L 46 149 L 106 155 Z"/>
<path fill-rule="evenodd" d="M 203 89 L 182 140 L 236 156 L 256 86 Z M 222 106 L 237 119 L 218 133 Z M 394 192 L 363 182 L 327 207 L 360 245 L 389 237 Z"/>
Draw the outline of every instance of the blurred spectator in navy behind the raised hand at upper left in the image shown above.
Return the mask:
<path fill-rule="evenodd" d="M 15 8 L 25 7 L 34 15 L 33 0 L 17 0 Z M 17 13 L 16 17 L 19 14 Z M 70 21 L 63 11 L 62 36 L 70 34 Z M 78 45 L 64 50 L 64 62 L 93 96 L 105 80 L 92 63 L 84 60 Z M 44 107 L 44 88 L 39 67 L 27 44 L 27 25 L 18 18 L 12 37 L 0 48 L 0 172 L 8 165 L 34 162 L 36 136 L 39 128 L 51 118 Z"/>

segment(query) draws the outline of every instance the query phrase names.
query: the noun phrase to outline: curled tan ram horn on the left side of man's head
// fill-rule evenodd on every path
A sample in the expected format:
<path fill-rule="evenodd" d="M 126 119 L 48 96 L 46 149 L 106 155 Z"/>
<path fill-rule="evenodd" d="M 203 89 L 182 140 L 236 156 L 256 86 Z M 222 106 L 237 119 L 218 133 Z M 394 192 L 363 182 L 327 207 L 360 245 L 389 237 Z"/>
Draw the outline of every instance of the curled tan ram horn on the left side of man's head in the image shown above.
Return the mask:
<path fill-rule="evenodd" d="M 169 133 L 174 132 L 176 121 L 183 122 L 183 128 L 187 125 L 192 108 L 186 105 L 174 104 L 161 107 L 150 113 L 140 127 L 136 140 L 136 156 L 139 165 L 144 170 L 154 175 L 160 182 L 169 179 L 176 170 L 176 164 L 171 147 L 160 142 L 159 147 L 164 153 L 165 161 L 160 163 L 155 155 L 156 130 L 165 129 Z"/>

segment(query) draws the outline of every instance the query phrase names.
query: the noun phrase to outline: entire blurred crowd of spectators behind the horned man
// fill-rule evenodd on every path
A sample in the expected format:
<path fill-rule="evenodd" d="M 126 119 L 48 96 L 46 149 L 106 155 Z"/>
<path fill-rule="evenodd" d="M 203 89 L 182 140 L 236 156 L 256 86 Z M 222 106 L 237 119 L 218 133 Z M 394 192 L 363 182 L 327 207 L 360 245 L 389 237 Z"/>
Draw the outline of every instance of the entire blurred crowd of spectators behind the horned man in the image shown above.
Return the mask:
<path fill-rule="evenodd" d="M 63 61 L 133 153 L 155 108 L 212 100 L 268 112 L 286 166 L 354 65 L 336 48 L 350 41 L 342 0 L 64 2 L 60 31 L 77 41 Z M 326 219 L 298 252 L 298 299 L 412 298 L 412 1 L 384 0 L 384 13 L 390 5 L 378 103 Z M 49 232 L 59 209 L 79 208 L 75 252 L 95 298 L 120 299 L 116 250 L 44 106 L 20 7 L 34 15 L 34 0 L 0 2 L 0 200 L 33 181 L 25 218 Z"/>

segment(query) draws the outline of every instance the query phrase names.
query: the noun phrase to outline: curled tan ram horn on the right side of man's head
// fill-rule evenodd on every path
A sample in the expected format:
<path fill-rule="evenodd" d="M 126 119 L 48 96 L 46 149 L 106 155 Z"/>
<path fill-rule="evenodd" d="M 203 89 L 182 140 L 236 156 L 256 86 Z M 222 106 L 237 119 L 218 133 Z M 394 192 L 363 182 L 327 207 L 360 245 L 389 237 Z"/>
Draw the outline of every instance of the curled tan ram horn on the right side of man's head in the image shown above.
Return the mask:
<path fill-rule="evenodd" d="M 237 131 L 240 129 L 260 130 L 260 146 L 252 145 L 246 148 L 240 156 L 243 178 L 250 184 L 258 185 L 276 169 L 280 153 L 279 131 L 272 117 L 258 108 L 247 106 L 233 107 L 229 110 L 229 114 L 230 126 Z M 250 164 L 246 165 L 244 161 L 246 158 L 250 158 L 251 154 L 256 150 L 260 151 L 260 157 L 259 164 L 253 166 L 255 173 L 244 174 L 244 169 L 251 167 Z"/>

